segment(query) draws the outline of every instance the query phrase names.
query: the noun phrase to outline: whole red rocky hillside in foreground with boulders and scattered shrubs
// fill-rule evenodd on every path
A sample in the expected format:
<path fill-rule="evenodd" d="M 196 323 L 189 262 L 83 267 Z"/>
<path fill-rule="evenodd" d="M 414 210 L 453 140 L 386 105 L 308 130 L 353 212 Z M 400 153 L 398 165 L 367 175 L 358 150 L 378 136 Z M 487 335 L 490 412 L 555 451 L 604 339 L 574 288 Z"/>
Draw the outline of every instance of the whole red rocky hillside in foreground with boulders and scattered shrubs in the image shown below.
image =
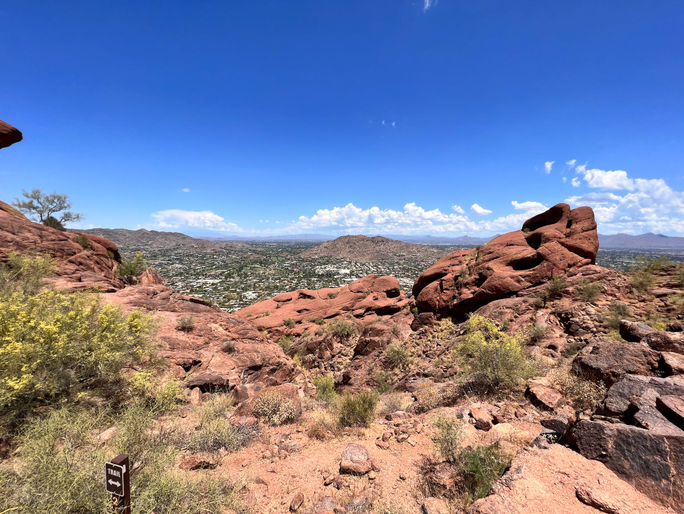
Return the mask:
<path fill-rule="evenodd" d="M 684 270 L 626 275 L 597 250 L 591 209 L 558 204 L 445 256 L 415 299 L 370 275 L 230 315 L 151 270 L 122 277 L 103 237 L 0 204 L 0 261 L 49 254 L 57 287 L 157 320 L 184 391 L 149 432 L 179 445 L 188 483 L 243 484 L 226 512 L 681 511 Z M 93 428 L 92 447 L 113 452 L 117 430 Z M 0 471 L 21 470 L 3 444 Z"/>

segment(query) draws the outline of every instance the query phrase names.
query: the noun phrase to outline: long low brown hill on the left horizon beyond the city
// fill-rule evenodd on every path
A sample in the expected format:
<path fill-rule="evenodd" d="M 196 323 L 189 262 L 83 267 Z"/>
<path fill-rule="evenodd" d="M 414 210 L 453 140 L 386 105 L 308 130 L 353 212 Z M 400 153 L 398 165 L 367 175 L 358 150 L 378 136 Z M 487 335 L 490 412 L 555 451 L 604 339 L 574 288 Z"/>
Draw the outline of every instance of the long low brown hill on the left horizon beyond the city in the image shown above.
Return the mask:
<path fill-rule="evenodd" d="M 190 237 L 188 235 L 181 234 L 180 232 L 162 232 L 158 230 L 93 228 L 89 230 L 80 230 L 79 232 L 106 237 L 124 251 L 128 248 L 140 247 L 149 247 L 155 249 L 181 247 L 186 249 L 207 251 L 217 248 L 225 248 L 227 246 L 245 246 L 242 243 L 208 241 L 206 239 Z"/>

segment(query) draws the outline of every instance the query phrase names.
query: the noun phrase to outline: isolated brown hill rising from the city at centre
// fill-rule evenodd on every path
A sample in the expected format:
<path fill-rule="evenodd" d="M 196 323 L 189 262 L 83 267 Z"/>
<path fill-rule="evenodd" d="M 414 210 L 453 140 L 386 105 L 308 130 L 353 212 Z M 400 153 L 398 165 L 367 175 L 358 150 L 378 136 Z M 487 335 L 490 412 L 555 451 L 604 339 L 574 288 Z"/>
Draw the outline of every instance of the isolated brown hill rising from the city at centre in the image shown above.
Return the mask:
<path fill-rule="evenodd" d="M 382 236 L 342 236 L 300 253 L 301 257 L 332 257 L 356 262 L 392 260 L 397 257 L 439 259 L 448 250 L 388 239 Z"/>

